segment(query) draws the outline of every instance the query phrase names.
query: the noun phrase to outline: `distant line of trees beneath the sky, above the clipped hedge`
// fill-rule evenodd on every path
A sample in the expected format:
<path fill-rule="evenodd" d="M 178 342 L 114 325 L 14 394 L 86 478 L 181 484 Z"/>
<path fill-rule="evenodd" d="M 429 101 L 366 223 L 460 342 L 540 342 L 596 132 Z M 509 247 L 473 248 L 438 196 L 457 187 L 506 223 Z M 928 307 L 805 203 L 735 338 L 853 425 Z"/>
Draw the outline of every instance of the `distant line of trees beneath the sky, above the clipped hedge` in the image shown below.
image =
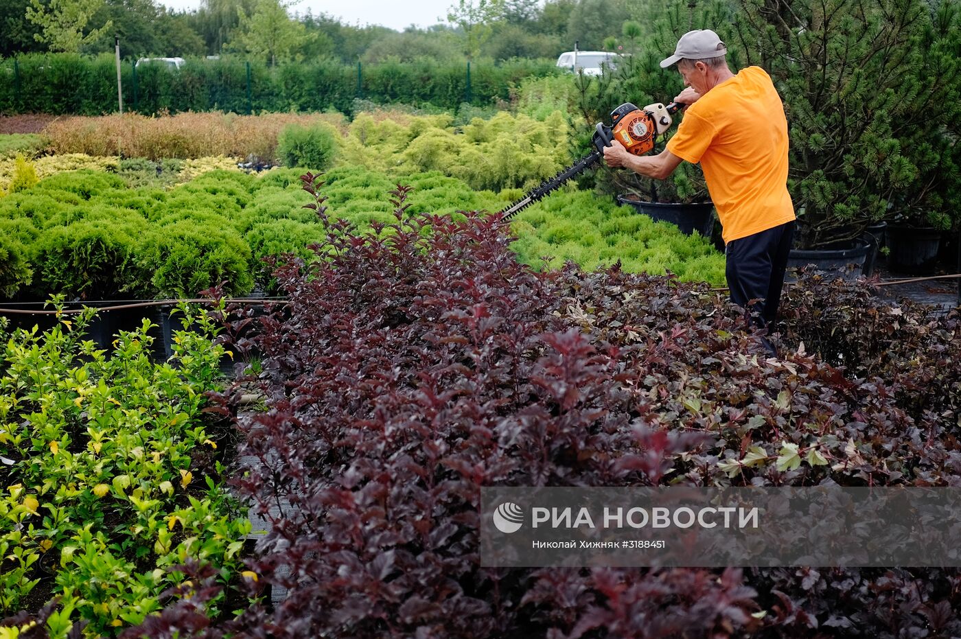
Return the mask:
<path fill-rule="evenodd" d="M 351 25 L 287 0 L 202 0 L 175 12 L 158 0 L 4 0 L 0 56 L 112 51 L 125 58 L 239 54 L 271 64 L 333 58 L 345 62 L 554 58 L 600 49 L 647 0 L 455 0 L 446 21 L 395 31 Z"/>

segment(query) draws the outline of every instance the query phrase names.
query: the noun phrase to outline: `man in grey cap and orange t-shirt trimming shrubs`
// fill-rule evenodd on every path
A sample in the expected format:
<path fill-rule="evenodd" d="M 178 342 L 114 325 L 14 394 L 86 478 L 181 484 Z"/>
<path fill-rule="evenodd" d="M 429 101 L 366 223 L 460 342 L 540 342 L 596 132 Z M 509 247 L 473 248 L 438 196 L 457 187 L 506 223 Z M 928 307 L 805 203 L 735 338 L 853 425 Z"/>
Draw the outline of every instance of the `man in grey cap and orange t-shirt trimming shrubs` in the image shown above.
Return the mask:
<path fill-rule="evenodd" d="M 653 157 L 632 156 L 614 140 L 604 160 L 658 180 L 681 160 L 701 163 L 724 229 L 731 301 L 747 308 L 763 300 L 754 321 L 767 326 L 776 318 L 794 235 L 787 119 L 768 74 L 750 66 L 734 75 L 726 56 L 713 31 L 684 34 L 674 55 L 661 61 L 663 68 L 677 64 L 687 87 L 674 99 L 689 105 L 677 133 Z"/>

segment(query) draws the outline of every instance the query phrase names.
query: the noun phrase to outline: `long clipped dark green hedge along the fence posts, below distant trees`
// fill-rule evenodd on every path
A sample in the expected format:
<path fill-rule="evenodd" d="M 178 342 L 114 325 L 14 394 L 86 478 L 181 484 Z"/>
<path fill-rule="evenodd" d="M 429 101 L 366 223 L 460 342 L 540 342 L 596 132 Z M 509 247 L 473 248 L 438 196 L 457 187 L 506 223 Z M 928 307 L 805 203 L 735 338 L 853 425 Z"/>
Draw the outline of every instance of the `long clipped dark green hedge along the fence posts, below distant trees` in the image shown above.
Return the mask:
<path fill-rule="evenodd" d="M 249 70 L 249 83 L 248 83 Z M 328 111 L 350 114 L 355 98 L 455 109 L 509 98 L 510 86 L 558 73 L 550 60 L 432 60 L 345 65 L 291 62 L 268 67 L 239 59 L 192 59 L 176 71 L 122 62 L 124 111 Z M 357 78 L 360 78 L 359 90 Z M 469 80 L 468 80 L 469 78 Z M 117 111 L 116 66 L 104 54 L 31 54 L 0 61 L 0 113 L 101 115 Z"/>

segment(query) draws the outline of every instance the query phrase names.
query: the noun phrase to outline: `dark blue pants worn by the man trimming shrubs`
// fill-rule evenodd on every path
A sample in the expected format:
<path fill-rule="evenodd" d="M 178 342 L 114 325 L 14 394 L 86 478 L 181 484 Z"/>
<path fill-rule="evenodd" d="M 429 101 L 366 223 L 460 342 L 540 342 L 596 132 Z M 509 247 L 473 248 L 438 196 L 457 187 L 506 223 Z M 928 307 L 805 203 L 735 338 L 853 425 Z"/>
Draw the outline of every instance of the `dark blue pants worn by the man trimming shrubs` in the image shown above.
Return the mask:
<path fill-rule="evenodd" d="M 730 301 L 751 308 L 752 321 L 765 327 L 775 321 L 794 222 L 727 242 L 727 287 Z M 749 306 L 752 300 L 760 300 Z"/>

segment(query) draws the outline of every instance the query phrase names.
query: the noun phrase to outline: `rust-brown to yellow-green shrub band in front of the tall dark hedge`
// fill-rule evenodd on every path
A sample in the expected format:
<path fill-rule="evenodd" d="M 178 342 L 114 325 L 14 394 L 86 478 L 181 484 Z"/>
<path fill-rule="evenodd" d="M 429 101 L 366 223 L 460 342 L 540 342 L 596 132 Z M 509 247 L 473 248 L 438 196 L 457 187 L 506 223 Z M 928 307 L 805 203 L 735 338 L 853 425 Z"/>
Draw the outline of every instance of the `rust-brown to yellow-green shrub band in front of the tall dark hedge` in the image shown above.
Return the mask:
<path fill-rule="evenodd" d="M 358 113 L 350 125 L 335 114 L 68 117 L 47 126 L 44 135 L 57 154 L 150 160 L 254 156 L 313 171 L 336 157 L 340 164 L 398 176 L 443 171 L 478 190 L 529 187 L 568 161 L 568 127 L 560 111 L 543 121 L 503 111 L 463 119 L 469 113 L 460 112 L 375 110 Z M 0 163 L 0 176 L 3 169 Z"/>

